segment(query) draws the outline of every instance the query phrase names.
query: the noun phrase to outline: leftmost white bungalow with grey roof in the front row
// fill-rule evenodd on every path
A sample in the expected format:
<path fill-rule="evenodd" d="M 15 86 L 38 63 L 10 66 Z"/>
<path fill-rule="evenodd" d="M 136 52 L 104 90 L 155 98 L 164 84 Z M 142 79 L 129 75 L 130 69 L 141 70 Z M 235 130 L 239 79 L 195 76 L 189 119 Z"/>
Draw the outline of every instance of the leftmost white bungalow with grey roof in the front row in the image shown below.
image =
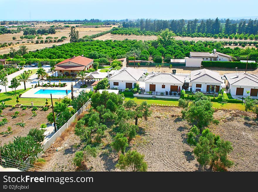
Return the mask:
<path fill-rule="evenodd" d="M 147 70 L 134 69 L 134 68 L 122 68 L 111 77 L 108 78 L 110 83 L 110 88 L 126 89 L 133 88 L 134 83 L 140 84 L 140 81 L 145 78 L 145 73 Z"/>

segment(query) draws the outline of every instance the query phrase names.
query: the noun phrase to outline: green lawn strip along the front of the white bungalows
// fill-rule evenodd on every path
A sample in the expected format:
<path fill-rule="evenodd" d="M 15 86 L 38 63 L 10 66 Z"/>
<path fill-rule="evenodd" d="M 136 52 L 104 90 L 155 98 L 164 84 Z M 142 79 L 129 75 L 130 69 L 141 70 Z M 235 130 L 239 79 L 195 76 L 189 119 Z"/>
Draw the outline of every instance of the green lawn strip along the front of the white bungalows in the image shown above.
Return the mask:
<path fill-rule="evenodd" d="M 145 98 L 145 97 L 125 97 L 125 101 L 133 99 L 136 103 L 140 104 L 143 101 L 146 101 L 148 104 L 156 105 L 178 105 L 177 99 L 163 99 L 163 98 Z M 213 108 L 222 108 L 222 109 L 232 109 L 232 110 L 245 110 L 245 105 L 238 103 L 221 103 L 211 102 Z"/>

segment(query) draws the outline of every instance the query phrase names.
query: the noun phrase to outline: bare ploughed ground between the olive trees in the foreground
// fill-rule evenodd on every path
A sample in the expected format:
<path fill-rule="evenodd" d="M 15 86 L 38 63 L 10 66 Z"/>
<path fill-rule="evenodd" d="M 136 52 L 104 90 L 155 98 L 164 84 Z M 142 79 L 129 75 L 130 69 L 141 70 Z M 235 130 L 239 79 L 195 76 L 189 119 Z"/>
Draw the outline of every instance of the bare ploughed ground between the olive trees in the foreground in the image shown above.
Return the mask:
<path fill-rule="evenodd" d="M 209 167 L 203 168 L 198 164 L 193 148 L 186 142 L 186 133 L 191 125 L 181 119 L 181 109 L 152 106 L 152 110 L 148 121 L 140 120 L 141 134 L 131 141 L 129 147 L 145 155 L 147 171 L 211 171 Z M 232 142 L 234 148 L 229 158 L 235 164 L 229 171 L 258 171 L 258 126 L 252 120 L 254 116 L 244 111 L 218 110 L 214 113 L 220 124 L 211 124 L 209 129 Z M 72 158 L 83 145 L 80 145 L 73 129 L 69 128 L 42 156 L 47 160 L 42 165 L 43 171 L 76 170 Z M 118 155 L 107 144 L 110 138 L 102 141 L 102 150 L 96 158 L 89 158 L 89 169 L 84 171 L 119 171 L 114 167 Z"/>

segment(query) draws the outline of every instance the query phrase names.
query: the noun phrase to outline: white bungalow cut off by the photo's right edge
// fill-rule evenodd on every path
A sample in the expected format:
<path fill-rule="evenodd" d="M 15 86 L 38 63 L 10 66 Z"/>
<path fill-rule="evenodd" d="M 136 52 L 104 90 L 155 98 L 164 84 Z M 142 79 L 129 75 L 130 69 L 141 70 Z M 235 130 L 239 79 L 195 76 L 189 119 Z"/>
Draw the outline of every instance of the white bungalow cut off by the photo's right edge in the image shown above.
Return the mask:
<path fill-rule="evenodd" d="M 258 75 L 249 73 L 227 73 L 226 85 L 232 96 L 254 96 L 258 95 Z M 250 91 L 247 93 L 247 91 Z"/>

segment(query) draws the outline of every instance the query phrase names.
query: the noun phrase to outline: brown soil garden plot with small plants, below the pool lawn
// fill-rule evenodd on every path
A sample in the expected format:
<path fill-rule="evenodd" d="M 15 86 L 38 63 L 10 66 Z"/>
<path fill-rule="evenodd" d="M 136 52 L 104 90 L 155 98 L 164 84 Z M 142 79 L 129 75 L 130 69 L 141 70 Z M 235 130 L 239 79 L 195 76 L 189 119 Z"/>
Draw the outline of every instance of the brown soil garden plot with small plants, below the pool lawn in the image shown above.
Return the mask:
<path fill-rule="evenodd" d="M 11 115 L 14 114 L 15 111 L 19 111 L 19 116 L 16 118 L 12 118 Z M 26 110 L 22 110 L 21 108 L 12 109 L 10 107 L 3 110 L 1 113 L 2 115 L 5 115 L 6 117 L 0 117 L 0 121 L 2 121 L 3 118 L 7 118 L 9 121 L 4 126 L 0 127 L 0 132 L 6 132 L 7 127 L 11 127 L 13 133 L 9 134 L 7 136 L 0 135 L 0 143 L 3 145 L 4 143 L 8 143 L 9 141 L 12 141 L 13 136 L 26 136 L 30 129 L 32 128 L 40 128 L 40 125 L 42 123 L 47 123 L 47 115 L 50 113 L 50 110 L 43 111 L 38 110 L 37 116 L 31 117 L 33 115 L 31 108 L 27 108 Z M 24 121 L 25 127 L 21 127 L 19 125 L 15 125 L 18 122 Z"/>

